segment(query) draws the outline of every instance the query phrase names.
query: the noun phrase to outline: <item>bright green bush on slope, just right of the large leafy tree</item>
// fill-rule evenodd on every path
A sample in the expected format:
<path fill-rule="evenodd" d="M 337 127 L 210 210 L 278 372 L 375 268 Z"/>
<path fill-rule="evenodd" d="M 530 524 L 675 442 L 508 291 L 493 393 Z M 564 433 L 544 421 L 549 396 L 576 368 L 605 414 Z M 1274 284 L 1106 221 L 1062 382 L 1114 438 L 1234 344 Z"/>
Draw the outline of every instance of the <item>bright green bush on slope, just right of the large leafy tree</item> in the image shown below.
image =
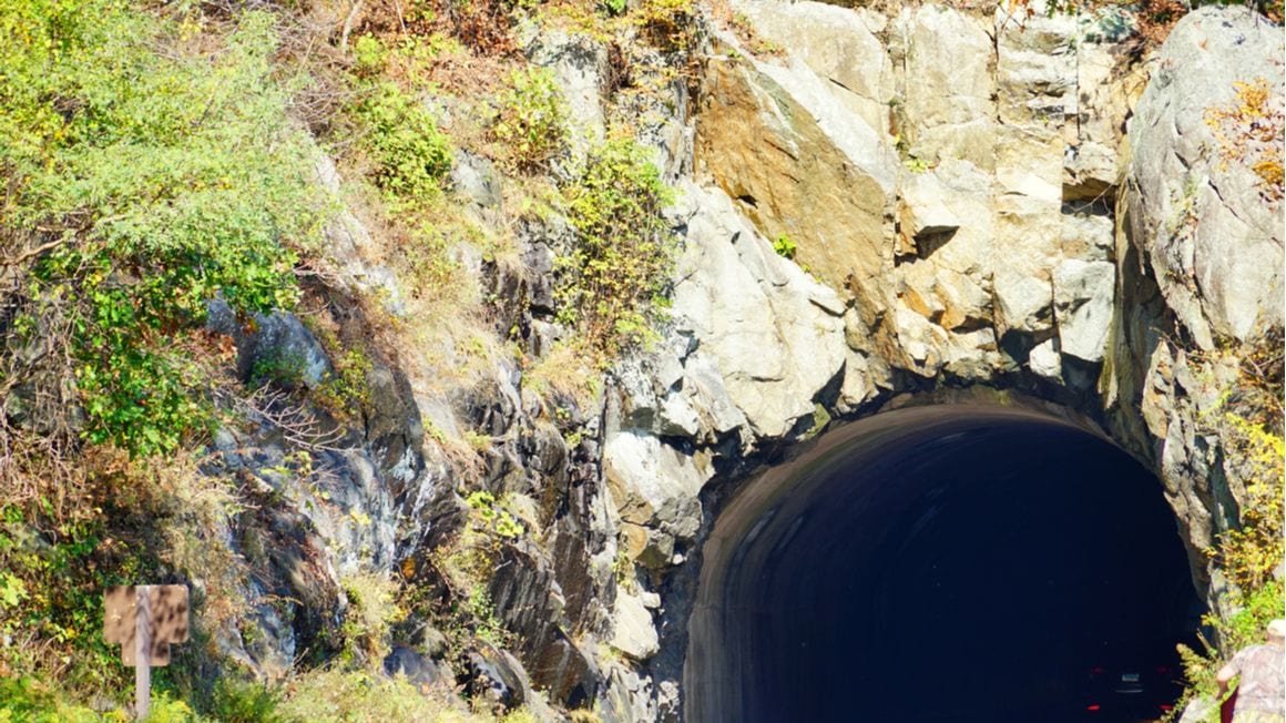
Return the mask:
<path fill-rule="evenodd" d="M 361 143 L 374 163 L 376 185 L 394 206 L 417 207 L 435 198 L 451 170 L 450 139 L 433 114 L 397 85 L 382 82 L 358 103 Z"/>

